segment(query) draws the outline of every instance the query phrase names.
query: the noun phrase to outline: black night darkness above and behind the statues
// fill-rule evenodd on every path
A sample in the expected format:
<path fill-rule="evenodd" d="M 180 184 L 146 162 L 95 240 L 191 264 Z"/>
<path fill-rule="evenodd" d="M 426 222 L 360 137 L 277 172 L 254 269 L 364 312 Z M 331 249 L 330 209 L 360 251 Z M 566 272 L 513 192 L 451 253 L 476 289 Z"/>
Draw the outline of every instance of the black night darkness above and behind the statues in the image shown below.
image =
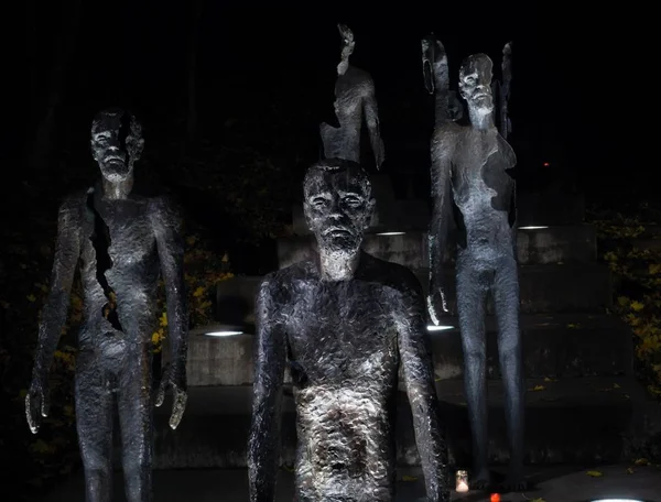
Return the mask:
<path fill-rule="evenodd" d="M 3 23 L 1 298 L 24 303 L 32 275 L 47 283 L 52 250 L 42 245 L 55 237 L 59 199 L 97 176 L 89 128 L 109 106 L 143 124 L 137 192 L 171 193 L 187 226 L 229 252 L 236 273 L 274 269 L 272 237 L 289 231 L 304 170 L 318 159 L 318 123 L 332 120 L 338 22 L 356 36 L 351 63 L 373 77 L 382 172 L 400 195 L 429 193 L 433 98 L 420 39 L 434 31 L 455 83 L 460 61 L 476 52 L 491 56 L 498 76 L 502 45 L 513 41 L 511 143 L 521 190 L 581 190 L 608 209 L 654 200 L 655 165 L 640 153 L 647 102 L 637 91 L 654 92 L 655 68 L 635 62 L 647 46 L 631 37 L 644 32 L 647 14 L 577 3 L 19 2 Z M 25 257 L 24 270 L 14 255 Z M 39 309 L 31 308 L 4 306 L 2 357 L 13 338 L 34 343 Z M 0 375 L 11 414 L 21 405 L 8 389 L 28 385 L 32 360 L 23 361 L 22 372 Z M 18 482 L 26 461 L 20 441 L 31 439 L 20 413 L 7 416 L 3 436 L 20 433 L 18 445 L 0 445 L 1 460 L 14 466 L 3 474 Z"/>

